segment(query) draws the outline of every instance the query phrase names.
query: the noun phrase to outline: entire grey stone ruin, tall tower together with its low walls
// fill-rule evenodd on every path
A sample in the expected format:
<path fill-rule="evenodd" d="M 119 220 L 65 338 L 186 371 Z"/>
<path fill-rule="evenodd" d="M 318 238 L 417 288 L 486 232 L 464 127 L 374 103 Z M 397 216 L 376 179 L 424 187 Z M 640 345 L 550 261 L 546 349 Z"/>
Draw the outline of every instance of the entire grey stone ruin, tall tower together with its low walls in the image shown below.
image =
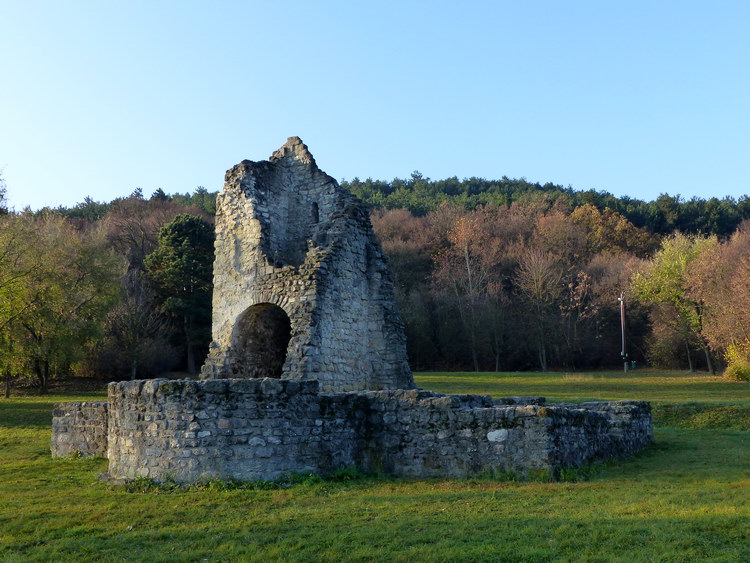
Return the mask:
<path fill-rule="evenodd" d="M 104 455 L 112 479 L 181 483 L 350 467 L 556 475 L 651 441 L 648 403 L 415 389 L 368 211 L 297 137 L 226 174 L 212 330 L 200 381 L 110 383 L 105 402 L 56 405 L 53 456 Z"/>

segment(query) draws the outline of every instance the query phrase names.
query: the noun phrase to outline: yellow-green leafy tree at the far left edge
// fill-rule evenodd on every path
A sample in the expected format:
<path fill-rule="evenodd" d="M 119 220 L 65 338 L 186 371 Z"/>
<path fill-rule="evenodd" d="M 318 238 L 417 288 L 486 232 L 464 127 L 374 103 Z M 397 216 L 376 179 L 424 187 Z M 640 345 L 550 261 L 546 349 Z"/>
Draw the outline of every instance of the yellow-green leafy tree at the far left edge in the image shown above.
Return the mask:
<path fill-rule="evenodd" d="M 123 264 L 100 232 L 78 231 L 57 214 L 9 215 L 2 227 L 6 377 L 30 372 L 44 393 L 51 376 L 69 373 L 101 335 Z"/>

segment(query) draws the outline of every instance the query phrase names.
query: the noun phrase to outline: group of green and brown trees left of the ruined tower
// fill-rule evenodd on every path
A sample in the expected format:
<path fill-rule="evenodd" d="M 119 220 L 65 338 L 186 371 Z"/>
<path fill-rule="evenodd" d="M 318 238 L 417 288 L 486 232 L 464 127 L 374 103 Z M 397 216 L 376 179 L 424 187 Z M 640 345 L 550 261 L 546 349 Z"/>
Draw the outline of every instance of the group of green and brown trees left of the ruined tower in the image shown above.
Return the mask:
<path fill-rule="evenodd" d="M 0 216 L 0 373 L 196 373 L 210 339 L 213 218 L 140 192 L 109 204 Z M 81 211 L 101 210 L 94 218 Z M 63 212 L 65 211 L 65 212 Z"/>

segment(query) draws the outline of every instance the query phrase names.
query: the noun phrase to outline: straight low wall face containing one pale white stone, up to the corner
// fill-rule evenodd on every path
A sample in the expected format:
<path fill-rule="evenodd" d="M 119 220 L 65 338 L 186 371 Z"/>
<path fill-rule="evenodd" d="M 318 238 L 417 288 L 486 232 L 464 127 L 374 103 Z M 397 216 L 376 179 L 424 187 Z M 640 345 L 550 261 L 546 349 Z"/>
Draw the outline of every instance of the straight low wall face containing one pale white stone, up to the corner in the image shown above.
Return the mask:
<path fill-rule="evenodd" d="M 362 394 L 368 401 L 365 471 L 462 477 L 549 468 L 549 437 L 535 407 L 421 390 Z"/>

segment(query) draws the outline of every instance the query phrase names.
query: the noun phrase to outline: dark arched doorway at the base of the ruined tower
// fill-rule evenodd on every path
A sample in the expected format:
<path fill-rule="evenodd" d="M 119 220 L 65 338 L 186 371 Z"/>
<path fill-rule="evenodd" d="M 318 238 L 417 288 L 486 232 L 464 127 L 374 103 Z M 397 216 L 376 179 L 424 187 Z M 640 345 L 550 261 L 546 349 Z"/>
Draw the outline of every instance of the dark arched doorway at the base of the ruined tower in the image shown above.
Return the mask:
<path fill-rule="evenodd" d="M 290 336 L 291 323 L 281 307 L 272 303 L 248 307 L 234 327 L 234 376 L 281 377 Z"/>

